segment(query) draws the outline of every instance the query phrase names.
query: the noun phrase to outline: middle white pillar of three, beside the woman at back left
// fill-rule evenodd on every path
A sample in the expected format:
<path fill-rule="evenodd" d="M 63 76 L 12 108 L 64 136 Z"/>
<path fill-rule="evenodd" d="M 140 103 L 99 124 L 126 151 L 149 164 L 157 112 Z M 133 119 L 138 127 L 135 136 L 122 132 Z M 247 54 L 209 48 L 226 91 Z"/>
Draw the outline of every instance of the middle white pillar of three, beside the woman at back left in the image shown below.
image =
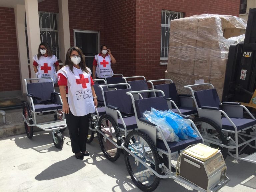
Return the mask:
<path fill-rule="evenodd" d="M 31 78 L 36 78 L 33 69 L 33 56 L 38 53 L 38 46 L 41 43 L 37 0 L 25 0 L 25 9 Z"/>

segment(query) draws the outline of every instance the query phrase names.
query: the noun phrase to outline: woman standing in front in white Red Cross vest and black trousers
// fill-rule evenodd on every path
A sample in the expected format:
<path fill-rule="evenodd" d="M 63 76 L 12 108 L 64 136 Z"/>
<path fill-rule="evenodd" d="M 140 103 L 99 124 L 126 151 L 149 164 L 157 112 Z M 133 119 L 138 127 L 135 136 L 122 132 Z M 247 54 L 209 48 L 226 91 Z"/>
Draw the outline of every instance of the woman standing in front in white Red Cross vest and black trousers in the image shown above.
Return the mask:
<path fill-rule="evenodd" d="M 82 160 L 84 156 L 90 155 L 86 150 L 90 113 L 95 112 L 98 102 L 84 54 L 78 47 L 68 49 L 65 66 L 58 71 L 58 85 L 72 152 L 77 159 Z"/>

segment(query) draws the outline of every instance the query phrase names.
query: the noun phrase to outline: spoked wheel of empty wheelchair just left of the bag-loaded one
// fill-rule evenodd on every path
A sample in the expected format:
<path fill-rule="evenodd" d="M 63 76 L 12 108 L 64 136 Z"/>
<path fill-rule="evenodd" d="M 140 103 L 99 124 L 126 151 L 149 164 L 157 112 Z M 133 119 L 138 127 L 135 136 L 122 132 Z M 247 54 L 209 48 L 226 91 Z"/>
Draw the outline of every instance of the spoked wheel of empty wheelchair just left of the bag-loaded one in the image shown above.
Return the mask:
<path fill-rule="evenodd" d="M 99 132 L 105 134 L 105 136 L 111 139 L 115 144 L 121 146 L 121 140 L 118 139 L 120 138 L 119 129 L 111 116 L 107 114 L 102 115 L 99 119 L 97 129 Z M 104 139 L 103 135 L 100 133 L 98 133 L 98 139 L 105 157 L 110 161 L 116 161 L 120 156 L 121 149 L 117 148 L 108 139 Z"/>

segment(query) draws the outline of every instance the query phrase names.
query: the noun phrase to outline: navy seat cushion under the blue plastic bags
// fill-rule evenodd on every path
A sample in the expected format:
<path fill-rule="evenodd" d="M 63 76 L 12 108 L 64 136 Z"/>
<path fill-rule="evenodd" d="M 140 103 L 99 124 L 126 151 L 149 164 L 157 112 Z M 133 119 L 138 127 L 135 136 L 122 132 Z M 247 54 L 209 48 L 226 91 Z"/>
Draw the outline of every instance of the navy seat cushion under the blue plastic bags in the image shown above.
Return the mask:
<path fill-rule="evenodd" d="M 197 143 L 202 143 L 203 140 L 200 137 L 196 137 L 196 138 L 189 138 L 189 139 L 185 139 L 185 140 L 181 140 L 178 142 L 167 142 L 169 148 L 171 149 L 171 152 L 175 152 L 175 151 L 180 151 L 185 149 L 186 147 L 188 147 L 189 145 L 194 145 Z M 164 142 L 160 139 L 156 140 L 156 147 L 162 150 L 167 151 L 167 148 L 164 145 Z"/>

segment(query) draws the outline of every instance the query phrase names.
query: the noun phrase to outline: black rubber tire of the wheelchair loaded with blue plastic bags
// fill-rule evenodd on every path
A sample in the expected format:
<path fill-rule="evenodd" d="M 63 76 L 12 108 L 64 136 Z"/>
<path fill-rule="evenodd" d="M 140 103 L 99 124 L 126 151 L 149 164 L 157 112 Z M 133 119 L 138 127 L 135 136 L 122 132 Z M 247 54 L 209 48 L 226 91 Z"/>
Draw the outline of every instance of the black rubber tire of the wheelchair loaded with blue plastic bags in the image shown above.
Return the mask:
<path fill-rule="evenodd" d="M 131 132 L 127 135 L 127 137 L 126 137 L 126 139 L 125 139 L 124 146 L 128 149 L 128 145 L 129 145 L 129 143 L 131 142 L 132 137 L 134 138 L 134 136 L 139 136 L 139 137 L 141 137 L 141 138 L 147 143 L 148 147 L 150 148 L 150 150 L 151 150 L 151 152 L 152 152 L 152 155 L 153 155 L 153 157 L 154 157 L 154 163 L 155 163 L 155 165 L 152 164 L 152 163 L 150 163 L 150 167 L 151 167 L 153 170 L 155 170 L 157 173 L 160 174 L 160 172 L 161 172 L 161 170 L 160 170 L 160 168 L 159 168 L 159 164 L 160 164 L 159 162 L 160 162 L 160 160 L 159 160 L 159 155 L 158 155 L 156 146 L 155 146 L 154 142 L 152 141 L 152 139 L 150 139 L 150 137 L 149 137 L 146 133 L 144 133 L 144 132 L 142 132 L 142 131 L 140 131 L 140 130 L 131 131 Z M 143 144 L 143 145 L 144 145 L 144 144 Z M 134 164 L 135 162 L 130 162 L 129 156 L 132 157 L 126 150 L 124 150 L 125 165 L 126 165 L 126 168 L 127 168 L 128 172 L 129 172 L 129 175 L 131 176 L 132 181 L 134 182 L 134 184 L 135 184 L 138 188 L 140 188 L 142 191 L 147 191 L 147 192 L 154 191 L 154 190 L 158 187 L 158 185 L 159 185 L 159 183 L 160 183 L 160 178 L 157 177 L 156 175 L 154 175 L 154 174 L 152 173 L 152 174 L 154 175 L 152 184 L 150 184 L 149 186 L 146 186 L 145 184 L 143 184 L 142 182 L 140 182 L 139 179 L 135 176 L 135 172 L 134 172 L 135 169 L 134 169 L 134 170 L 132 169 L 132 164 Z M 138 158 L 141 159 L 141 157 L 138 157 Z M 151 159 L 151 160 L 152 160 L 152 159 Z M 132 164 L 131 164 L 131 163 L 132 163 Z M 137 167 L 140 167 L 140 166 L 137 165 Z M 144 166 L 144 167 L 145 167 L 145 166 Z M 138 168 L 137 168 L 135 171 L 138 172 Z M 143 171 L 144 171 L 144 170 L 143 170 Z M 139 174 L 139 175 L 141 175 L 141 174 Z M 145 174 L 145 175 L 146 175 L 146 174 Z M 143 174 L 144 177 L 145 177 L 145 175 Z M 151 176 L 152 176 L 152 175 L 151 175 Z"/>

